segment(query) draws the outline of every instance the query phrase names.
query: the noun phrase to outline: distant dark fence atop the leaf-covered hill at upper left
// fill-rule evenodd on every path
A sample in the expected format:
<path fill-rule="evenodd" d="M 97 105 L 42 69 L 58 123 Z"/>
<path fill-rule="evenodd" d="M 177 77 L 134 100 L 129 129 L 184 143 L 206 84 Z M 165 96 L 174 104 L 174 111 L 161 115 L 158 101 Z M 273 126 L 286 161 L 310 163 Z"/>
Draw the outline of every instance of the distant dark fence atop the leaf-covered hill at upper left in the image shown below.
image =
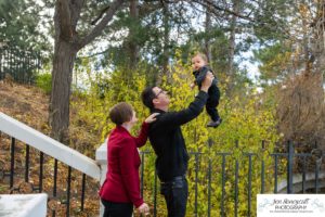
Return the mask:
<path fill-rule="evenodd" d="M 40 67 L 41 55 L 38 51 L 0 48 L 0 80 L 9 75 L 17 82 L 31 85 Z"/>

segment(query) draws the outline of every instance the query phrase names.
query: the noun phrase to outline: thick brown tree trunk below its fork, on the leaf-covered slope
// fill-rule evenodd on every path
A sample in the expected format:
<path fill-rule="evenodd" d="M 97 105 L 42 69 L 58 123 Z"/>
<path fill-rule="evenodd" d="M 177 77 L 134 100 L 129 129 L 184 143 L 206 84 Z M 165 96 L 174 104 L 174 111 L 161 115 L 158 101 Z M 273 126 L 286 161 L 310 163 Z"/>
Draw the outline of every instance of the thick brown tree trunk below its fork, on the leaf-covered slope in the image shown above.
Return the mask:
<path fill-rule="evenodd" d="M 55 44 L 52 92 L 50 104 L 50 125 L 52 137 L 61 142 L 67 142 L 69 126 L 69 97 L 72 76 L 77 51 L 66 41 L 60 40 Z"/>

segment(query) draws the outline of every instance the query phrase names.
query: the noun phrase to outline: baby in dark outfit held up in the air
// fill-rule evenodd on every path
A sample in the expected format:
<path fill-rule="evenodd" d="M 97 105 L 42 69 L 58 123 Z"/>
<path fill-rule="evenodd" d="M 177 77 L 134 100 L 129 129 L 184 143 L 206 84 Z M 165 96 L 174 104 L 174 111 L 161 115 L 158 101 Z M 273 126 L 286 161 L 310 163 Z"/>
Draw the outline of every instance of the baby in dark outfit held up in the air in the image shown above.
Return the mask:
<path fill-rule="evenodd" d="M 193 75 L 195 77 L 194 82 L 191 85 L 193 89 L 196 85 L 198 88 L 202 86 L 202 81 L 205 79 L 208 72 L 212 72 L 211 68 L 207 65 L 208 59 L 203 53 L 196 53 L 192 59 L 192 66 L 193 66 Z M 212 80 L 212 85 L 208 90 L 208 101 L 206 104 L 207 113 L 209 114 L 211 120 L 208 123 L 207 127 L 218 127 L 222 119 L 219 116 L 217 106 L 219 105 L 220 100 L 220 90 L 217 86 L 217 78 Z"/>

